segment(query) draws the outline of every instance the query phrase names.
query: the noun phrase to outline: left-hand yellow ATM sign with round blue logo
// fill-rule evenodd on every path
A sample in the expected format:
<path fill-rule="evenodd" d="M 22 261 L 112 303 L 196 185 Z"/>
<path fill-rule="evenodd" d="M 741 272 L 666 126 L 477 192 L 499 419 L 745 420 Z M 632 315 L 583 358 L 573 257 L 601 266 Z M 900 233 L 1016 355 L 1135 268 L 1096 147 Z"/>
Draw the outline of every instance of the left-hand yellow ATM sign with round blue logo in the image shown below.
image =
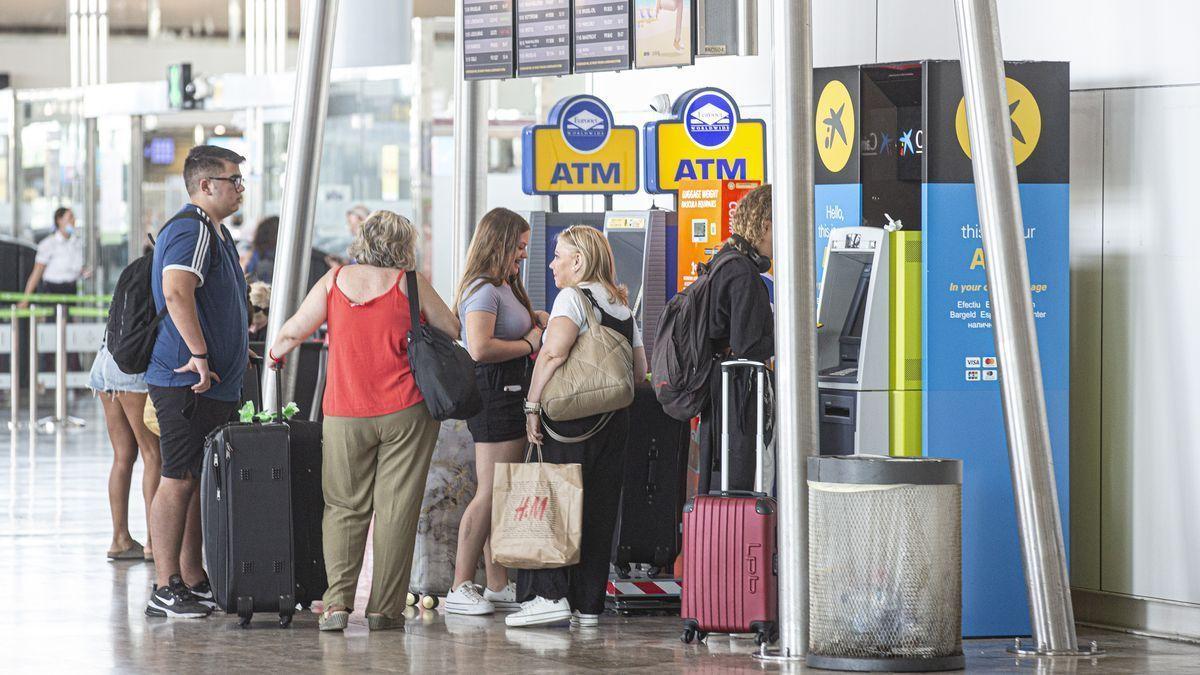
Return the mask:
<path fill-rule="evenodd" d="M 637 127 L 616 126 L 595 96 L 569 96 L 550 124 L 522 131 L 521 187 L 526 195 L 637 192 Z"/>

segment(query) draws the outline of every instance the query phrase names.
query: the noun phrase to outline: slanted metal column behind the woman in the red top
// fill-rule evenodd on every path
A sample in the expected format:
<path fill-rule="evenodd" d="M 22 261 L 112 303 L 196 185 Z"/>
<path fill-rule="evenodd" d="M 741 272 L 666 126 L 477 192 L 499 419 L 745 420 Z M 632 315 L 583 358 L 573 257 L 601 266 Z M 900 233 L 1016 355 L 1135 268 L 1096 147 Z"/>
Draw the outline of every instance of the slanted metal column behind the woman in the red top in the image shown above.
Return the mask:
<path fill-rule="evenodd" d="M 322 141 L 329 107 L 329 67 L 334 54 L 337 0 L 305 4 L 300 22 L 300 53 L 296 62 L 295 103 L 288 132 L 288 160 L 280 208 L 280 234 L 275 249 L 275 279 L 266 344 L 278 335 L 308 291 L 308 256 L 312 252 L 313 211 L 317 207 Z M 265 356 L 265 354 L 263 354 Z M 294 374 L 290 370 L 290 374 Z M 263 370 L 263 406 L 277 410 L 271 374 Z M 290 378 L 289 378 L 290 380 Z"/>

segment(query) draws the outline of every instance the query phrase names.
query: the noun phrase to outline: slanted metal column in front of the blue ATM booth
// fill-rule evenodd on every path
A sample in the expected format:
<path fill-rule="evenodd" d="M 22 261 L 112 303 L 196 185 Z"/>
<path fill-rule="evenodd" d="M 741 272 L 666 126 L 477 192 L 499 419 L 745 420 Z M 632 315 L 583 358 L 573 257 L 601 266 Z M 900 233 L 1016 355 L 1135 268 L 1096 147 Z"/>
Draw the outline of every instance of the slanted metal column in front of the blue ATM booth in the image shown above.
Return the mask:
<path fill-rule="evenodd" d="M 1013 162 L 1000 20 L 995 0 L 955 0 L 954 8 L 971 132 L 971 166 L 1001 364 L 1001 402 L 1036 641 L 1034 650 L 1026 652 L 1018 646 L 1016 651 L 1076 655 L 1079 643 Z"/>

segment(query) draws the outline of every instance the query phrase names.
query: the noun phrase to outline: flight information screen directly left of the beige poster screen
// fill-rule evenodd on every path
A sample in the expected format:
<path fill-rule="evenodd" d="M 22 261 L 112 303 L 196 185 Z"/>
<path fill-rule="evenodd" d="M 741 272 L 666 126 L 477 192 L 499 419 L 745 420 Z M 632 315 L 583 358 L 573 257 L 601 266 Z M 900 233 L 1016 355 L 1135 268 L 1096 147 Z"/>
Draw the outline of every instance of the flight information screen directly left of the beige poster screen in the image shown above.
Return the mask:
<path fill-rule="evenodd" d="M 575 0 L 575 72 L 632 65 L 632 0 Z"/>

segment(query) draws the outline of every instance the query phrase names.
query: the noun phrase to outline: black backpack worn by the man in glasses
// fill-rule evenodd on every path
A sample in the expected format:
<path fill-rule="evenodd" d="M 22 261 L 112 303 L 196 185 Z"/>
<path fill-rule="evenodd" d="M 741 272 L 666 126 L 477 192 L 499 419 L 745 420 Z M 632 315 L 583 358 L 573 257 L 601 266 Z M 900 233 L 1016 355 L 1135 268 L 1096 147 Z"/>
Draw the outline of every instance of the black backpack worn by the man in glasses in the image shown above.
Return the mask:
<path fill-rule="evenodd" d="M 168 220 L 162 229 L 176 220 L 191 217 L 194 217 L 191 213 L 178 214 Z M 210 237 L 209 241 L 210 253 L 216 255 L 216 237 Z M 150 243 L 154 244 L 152 238 Z M 126 265 L 116 280 L 113 303 L 108 307 L 104 344 L 113 354 L 116 366 L 130 375 L 145 372 L 150 368 L 150 356 L 158 336 L 158 323 L 167 315 L 167 307 L 155 311 L 154 293 L 150 289 L 151 274 L 154 274 L 154 251 Z"/>

